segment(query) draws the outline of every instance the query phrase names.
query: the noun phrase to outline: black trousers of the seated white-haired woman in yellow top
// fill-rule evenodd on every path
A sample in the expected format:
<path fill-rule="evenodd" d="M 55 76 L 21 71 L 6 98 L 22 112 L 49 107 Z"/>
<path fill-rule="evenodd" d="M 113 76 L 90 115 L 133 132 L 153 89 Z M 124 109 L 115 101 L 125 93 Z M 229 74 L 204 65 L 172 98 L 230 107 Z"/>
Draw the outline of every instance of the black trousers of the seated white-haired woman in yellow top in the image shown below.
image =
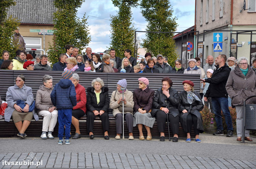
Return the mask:
<path fill-rule="evenodd" d="M 86 111 L 86 116 L 87 116 L 87 119 L 86 119 L 87 132 L 89 134 L 90 132 L 93 132 L 93 125 L 94 125 L 94 120 L 95 120 L 96 116 L 94 115 L 93 112 L 88 111 L 88 110 Z M 109 114 L 108 114 L 108 112 L 104 112 L 103 114 L 97 115 L 97 116 L 100 117 L 103 131 L 104 132 L 109 131 Z"/>

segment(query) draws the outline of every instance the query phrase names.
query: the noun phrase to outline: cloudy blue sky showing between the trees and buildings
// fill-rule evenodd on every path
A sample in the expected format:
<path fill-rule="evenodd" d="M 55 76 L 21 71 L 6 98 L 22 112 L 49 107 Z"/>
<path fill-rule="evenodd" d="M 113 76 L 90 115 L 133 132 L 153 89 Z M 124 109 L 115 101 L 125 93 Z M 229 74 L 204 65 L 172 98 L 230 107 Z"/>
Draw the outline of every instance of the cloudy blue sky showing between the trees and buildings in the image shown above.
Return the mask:
<path fill-rule="evenodd" d="M 176 21 L 178 23 L 177 32 L 194 25 L 195 1 L 173 0 L 170 1 L 170 5 L 174 10 L 173 17 L 176 16 L 178 19 Z M 109 47 L 111 40 L 110 15 L 116 15 L 117 10 L 118 8 L 114 7 L 111 0 L 86 0 L 78 9 L 78 17 L 82 18 L 85 12 L 86 15 L 90 15 L 87 20 L 91 35 L 88 47 L 92 48 L 92 52 L 103 52 Z M 140 7 L 132 8 L 132 22 L 137 31 L 145 31 L 147 22 L 140 12 Z M 138 36 L 140 39 L 145 38 L 145 33 L 139 33 Z"/>

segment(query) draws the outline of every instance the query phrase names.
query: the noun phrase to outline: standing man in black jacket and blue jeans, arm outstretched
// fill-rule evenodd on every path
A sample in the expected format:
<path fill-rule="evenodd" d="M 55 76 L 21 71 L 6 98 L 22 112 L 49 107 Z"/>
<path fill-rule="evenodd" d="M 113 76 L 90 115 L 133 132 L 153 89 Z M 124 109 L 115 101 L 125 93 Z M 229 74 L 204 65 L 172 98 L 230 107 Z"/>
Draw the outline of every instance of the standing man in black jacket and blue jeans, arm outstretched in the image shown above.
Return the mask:
<path fill-rule="evenodd" d="M 226 83 L 228 81 L 228 76 L 230 73 L 230 68 L 226 63 L 227 56 L 219 55 L 215 59 L 216 70 L 212 73 L 212 77 L 208 79 L 201 79 L 201 81 L 210 83 L 208 90 L 206 91 L 204 100 L 207 101 L 208 97 L 212 98 L 212 108 L 215 114 L 215 121 L 217 124 L 217 131 L 213 135 L 224 135 L 221 110 L 225 116 L 225 121 L 227 124 L 227 137 L 233 136 L 233 126 L 230 111 L 228 109 L 228 93 L 226 90 Z"/>

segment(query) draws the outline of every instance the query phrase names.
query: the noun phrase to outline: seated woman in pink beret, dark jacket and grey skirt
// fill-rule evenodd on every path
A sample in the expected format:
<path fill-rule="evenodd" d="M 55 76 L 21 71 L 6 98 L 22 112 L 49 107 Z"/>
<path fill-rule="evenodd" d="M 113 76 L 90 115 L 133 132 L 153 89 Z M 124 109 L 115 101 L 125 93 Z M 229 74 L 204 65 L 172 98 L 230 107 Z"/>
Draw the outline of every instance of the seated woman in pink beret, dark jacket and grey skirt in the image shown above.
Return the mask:
<path fill-rule="evenodd" d="M 148 87 L 148 79 L 141 77 L 138 79 L 139 88 L 133 90 L 133 127 L 138 126 L 140 132 L 140 140 L 144 140 L 142 133 L 142 125 L 145 126 L 147 130 L 147 139 L 151 140 L 150 127 L 152 128 L 155 122 L 155 118 L 152 118 L 150 112 L 152 109 L 152 103 L 154 99 L 155 91 Z"/>

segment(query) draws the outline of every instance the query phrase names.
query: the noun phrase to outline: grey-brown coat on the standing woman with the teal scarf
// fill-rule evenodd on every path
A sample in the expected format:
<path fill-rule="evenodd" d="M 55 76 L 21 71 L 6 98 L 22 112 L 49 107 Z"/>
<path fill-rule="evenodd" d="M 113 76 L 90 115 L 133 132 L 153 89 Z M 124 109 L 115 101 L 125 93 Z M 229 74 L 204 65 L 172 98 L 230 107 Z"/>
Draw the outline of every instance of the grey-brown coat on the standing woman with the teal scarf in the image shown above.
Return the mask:
<path fill-rule="evenodd" d="M 256 95 L 255 72 L 248 66 L 248 72 L 244 76 L 240 68 L 235 67 L 229 74 L 226 90 L 229 97 L 232 98 L 233 106 L 243 105 L 246 98 Z M 256 104 L 255 97 L 247 100 L 246 104 Z"/>

